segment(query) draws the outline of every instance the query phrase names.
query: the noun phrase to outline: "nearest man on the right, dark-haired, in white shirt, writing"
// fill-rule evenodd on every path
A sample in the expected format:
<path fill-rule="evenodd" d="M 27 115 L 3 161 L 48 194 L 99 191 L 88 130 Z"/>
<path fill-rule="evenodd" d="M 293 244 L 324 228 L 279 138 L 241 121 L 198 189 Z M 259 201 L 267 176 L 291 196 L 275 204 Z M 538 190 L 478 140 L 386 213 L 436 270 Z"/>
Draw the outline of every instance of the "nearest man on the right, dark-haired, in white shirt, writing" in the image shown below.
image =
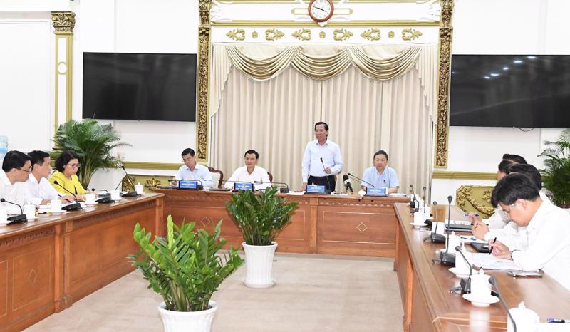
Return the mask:
<path fill-rule="evenodd" d="M 570 214 L 546 204 L 526 175 L 509 174 L 493 189 L 491 202 L 499 204 L 519 227 L 527 227 L 528 245 L 512 249 L 500 241 L 489 241 L 492 254 L 512 259 L 524 271 L 544 273 L 570 289 Z"/>

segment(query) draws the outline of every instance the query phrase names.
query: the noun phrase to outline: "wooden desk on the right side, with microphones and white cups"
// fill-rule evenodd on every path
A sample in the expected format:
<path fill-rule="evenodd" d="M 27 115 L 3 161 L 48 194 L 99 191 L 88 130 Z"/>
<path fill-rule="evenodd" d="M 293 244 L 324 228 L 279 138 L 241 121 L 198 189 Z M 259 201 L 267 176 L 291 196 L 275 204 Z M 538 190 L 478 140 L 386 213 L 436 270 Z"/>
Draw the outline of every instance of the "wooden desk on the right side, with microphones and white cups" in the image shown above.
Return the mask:
<path fill-rule="evenodd" d="M 447 269 L 432 263 L 443 244 L 423 242 L 427 232 L 419 232 L 410 222 L 410 209 L 395 204 L 398 237 L 394 270 L 398 274 L 404 308 L 404 331 L 504 331 L 507 313 L 500 303 L 477 308 L 450 289 L 460 279 Z M 454 215 L 455 214 L 455 215 Z M 457 209 L 452 219 L 465 219 Z M 541 321 L 549 317 L 570 316 L 570 291 L 549 276 L 512 278 L 506 271 L 486 271 L 497 279 L 509 308 L 524 301 L 536 311 Z"/>

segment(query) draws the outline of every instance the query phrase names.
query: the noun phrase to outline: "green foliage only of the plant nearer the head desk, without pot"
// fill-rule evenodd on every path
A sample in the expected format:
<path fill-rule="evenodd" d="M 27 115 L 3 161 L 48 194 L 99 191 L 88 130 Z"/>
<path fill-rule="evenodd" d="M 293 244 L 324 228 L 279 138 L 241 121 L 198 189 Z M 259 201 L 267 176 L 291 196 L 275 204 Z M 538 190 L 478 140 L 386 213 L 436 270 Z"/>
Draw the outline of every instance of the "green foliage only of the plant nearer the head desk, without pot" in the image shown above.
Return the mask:
<path fill-rule="evenodd" d="M 229 214 L 242 229 L 246 244 L 271 245 L 281 229 L 291 221 L 291 213 L 299 202 L 286 203 L 285 199 L 277 196 L 277 192 L 276 187 L 269 187 L 258 195 L 251 190 L 242 190 L 226 203 Z"/>

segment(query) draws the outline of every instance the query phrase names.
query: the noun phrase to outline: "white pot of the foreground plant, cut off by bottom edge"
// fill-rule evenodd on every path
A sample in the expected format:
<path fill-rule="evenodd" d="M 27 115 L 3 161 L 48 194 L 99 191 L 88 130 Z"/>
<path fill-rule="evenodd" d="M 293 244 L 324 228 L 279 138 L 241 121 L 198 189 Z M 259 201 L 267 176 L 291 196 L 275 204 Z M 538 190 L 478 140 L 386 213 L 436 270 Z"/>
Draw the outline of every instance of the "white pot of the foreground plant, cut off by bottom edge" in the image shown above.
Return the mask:
<path fill-rule="evenodd" d="M 165 303 L 161 302 L 158 312 L 165 332 L 209 332 L 218 306 L 211 300 L 208 304 L 210 308 L 207 310 L 184 312 L 167 310 Z"/>

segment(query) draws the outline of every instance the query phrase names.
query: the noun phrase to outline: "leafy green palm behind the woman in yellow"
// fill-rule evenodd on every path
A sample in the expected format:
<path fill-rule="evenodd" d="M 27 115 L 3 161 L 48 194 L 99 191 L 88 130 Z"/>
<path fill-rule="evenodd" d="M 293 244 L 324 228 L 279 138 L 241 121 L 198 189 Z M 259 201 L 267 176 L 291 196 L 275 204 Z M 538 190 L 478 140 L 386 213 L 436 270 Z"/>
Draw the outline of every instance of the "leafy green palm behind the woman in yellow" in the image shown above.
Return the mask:
<path fill-rule="evenodd" d="M 76 152 L 81 162 L 77 172 L 79 182 L 88 187 L 93 173 L 99 168 L 117 168 L 121 160 L 111 155 L 115 147 L 129 145 L 120 142 L 113 125 L 100 125 L 96 120 L 85 119 L 81 122 L 69 120 L 59 125 L 53 142 L 51 156 L 56 158 L 64 151 Z"/>

